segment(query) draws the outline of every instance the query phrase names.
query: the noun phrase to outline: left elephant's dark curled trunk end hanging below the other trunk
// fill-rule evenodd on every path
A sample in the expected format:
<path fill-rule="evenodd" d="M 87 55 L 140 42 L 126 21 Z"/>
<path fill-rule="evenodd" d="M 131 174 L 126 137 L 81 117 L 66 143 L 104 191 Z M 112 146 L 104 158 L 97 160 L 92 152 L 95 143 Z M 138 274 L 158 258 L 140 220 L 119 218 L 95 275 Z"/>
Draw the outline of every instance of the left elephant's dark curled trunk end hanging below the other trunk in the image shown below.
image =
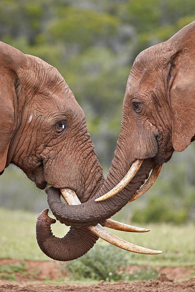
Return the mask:
<path fill-rule="evenodd" d="M 79 229 L 71 227 L 65 237 L 55 237 L 50 225 L 56 220 L 47 214 L 48 209 L 42 211 L 37 218 L 36 239 L 39 247 L 48 257 L 60 261 L 74 260 L 94 246 L 98 237 L 85 227 Z"/>

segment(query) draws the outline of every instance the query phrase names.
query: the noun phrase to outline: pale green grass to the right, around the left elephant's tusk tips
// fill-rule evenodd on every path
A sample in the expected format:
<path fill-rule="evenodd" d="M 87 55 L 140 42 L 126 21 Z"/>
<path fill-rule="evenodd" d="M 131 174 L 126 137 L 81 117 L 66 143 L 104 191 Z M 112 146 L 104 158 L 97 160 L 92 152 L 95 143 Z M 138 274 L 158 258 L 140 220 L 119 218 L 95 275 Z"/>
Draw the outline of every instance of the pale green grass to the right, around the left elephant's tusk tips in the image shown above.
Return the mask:
<path fill-rule="evenodd" d="M 137 226 L 149 228 L 151 231 L 144 233 L 115 231 L 113 233 L 128 242 L 146 248 L 162 250 L 163 253 L 145 255 L 129 252 L 129 264 L 175 267 L 195 265 L 195 227 L 193 224 L 175 226 L 167 223 L 150 223 Z M 105 244 L 103 240 L 100 241 Z"/>

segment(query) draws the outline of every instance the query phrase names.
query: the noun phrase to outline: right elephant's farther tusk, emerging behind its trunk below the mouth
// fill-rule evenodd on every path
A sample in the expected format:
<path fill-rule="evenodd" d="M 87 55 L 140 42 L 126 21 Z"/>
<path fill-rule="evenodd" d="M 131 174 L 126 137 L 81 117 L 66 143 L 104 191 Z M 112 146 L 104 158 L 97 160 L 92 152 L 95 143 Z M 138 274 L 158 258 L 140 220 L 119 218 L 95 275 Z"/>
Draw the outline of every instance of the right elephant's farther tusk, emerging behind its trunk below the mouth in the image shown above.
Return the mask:
<path fill-rule="evenodd" d="M 159 173 L 161 171 L 162 165 L 155 165 L 151 175 L 149 176 L 148 180 L 142 185 L 142 187 L 133 195 L 133 197 L 128 201 L 128 203 L 133 202 L 140 198 L 143 194 L 145 194 L 155 183 Z"/>

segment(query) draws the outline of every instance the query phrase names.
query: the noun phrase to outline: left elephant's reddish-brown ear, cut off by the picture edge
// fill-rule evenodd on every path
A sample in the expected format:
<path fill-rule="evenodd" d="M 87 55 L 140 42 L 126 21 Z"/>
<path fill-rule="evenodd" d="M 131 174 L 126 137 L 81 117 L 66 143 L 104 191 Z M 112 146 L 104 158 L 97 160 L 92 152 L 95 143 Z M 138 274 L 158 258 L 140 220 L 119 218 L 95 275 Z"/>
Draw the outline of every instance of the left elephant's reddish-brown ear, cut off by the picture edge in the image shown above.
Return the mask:
<path fill-rule="evenodd" d="M 0 174 L 6 166 L 9 144 L 17 125 L 15 113 L 18 106 L 17 87 L 22 78 L 21 69 L 27 66 L 25 54 L 0 42 Z"/>

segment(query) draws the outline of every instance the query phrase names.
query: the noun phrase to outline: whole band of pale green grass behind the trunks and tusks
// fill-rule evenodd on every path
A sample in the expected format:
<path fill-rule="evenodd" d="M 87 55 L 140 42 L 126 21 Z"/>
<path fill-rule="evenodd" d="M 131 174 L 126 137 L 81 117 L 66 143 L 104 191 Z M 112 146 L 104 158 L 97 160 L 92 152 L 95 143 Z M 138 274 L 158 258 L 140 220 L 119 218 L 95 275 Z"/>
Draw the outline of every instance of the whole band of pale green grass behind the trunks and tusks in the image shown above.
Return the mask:
<path fill-rule="evenodd" d="M 49 214 L 51 217 L 51 213 Z M 11 211 L 0 208 L 0 258 L 20 260 L 50 260 L 36 242 L 36 217 L 38 214 Z M 133 225 L 133 224 L 132 224 Z M 129 264 L 147 266 L 194 266 L 195 265 L 195 227 L 192 224 L 174 226 L 171 224 L 147 224 L 139 226 L 150 228 L 147 233 L 128 233 L 111 230 L 117 236 L 143 247 L 163 250 L 160 255 L 142 255 L 126 251 Z M 55 223 L 53 233 L 63 237 L 69 227 Z M 98 240 L 98 245 L 107 243 Z M 94 247 L 95 249 L 96 247 Z"/>

